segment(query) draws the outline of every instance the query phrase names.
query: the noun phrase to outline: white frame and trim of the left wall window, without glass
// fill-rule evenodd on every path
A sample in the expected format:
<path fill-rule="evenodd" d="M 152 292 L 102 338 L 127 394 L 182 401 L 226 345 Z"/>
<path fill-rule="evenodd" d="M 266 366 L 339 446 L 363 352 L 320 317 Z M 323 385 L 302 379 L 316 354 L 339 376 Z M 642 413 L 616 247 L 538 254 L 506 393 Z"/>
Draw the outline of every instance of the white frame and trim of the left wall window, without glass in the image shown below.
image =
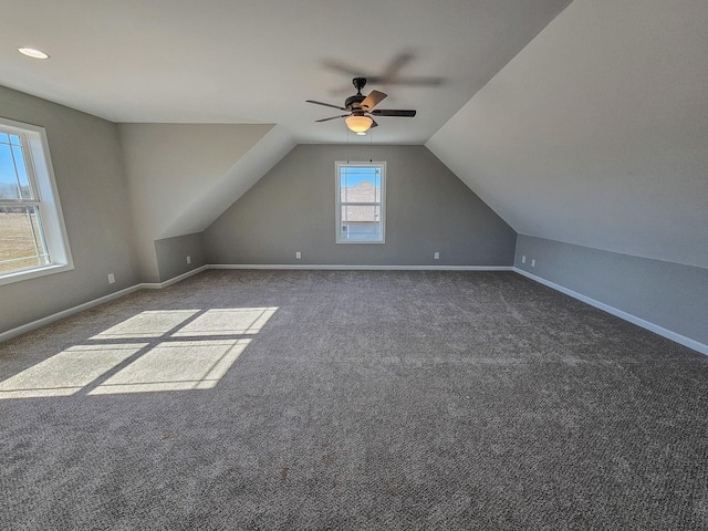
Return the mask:
<path fill-rule="evenodd" d="M 0 206 L 37 207 L 43 244 L 50 257 L 50 263 L 45 266 L 0 272 L 0 285 L 73 270 L 46 131 L 38 125 L 0 117 L 0 132 L 20 137 L 28 183 L 33 191 L 32 199 L 0 199 Z"/>

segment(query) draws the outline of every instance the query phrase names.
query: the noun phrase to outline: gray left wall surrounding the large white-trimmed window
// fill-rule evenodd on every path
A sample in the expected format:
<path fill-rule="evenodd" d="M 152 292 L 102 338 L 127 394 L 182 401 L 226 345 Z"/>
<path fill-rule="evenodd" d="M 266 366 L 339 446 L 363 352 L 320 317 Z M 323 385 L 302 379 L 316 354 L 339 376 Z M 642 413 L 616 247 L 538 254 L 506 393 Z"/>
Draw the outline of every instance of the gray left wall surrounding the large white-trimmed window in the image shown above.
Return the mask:
<path fill-rule="evenodd" d="M 0 332 L 135 285 L 133 222 L 117 127 L 0 86 L 0 116 L 46 129 L 74 270 L 0 287 Z M 116 282 L 108 284 L 107 274 Z"/>

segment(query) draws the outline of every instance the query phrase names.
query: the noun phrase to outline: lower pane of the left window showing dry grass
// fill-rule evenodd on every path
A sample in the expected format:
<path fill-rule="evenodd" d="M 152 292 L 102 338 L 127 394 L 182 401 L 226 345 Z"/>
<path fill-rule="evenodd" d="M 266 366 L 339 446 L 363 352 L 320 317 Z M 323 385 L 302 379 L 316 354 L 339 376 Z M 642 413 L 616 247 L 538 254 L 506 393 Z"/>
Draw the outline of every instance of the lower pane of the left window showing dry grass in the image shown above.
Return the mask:
<path fill-rule="evenodd" d="M 50 263 L 38 208 L 0 208 L 0 273 Z"/>

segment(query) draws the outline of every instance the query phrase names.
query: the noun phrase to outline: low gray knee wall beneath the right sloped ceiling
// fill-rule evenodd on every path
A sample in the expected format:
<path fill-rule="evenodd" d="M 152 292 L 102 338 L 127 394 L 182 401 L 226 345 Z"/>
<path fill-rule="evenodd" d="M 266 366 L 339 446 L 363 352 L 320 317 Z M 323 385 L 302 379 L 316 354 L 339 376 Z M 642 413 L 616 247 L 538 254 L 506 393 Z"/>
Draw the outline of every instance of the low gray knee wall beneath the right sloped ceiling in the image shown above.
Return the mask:
<path fill-rule="evenodd" d="M 708 345 L 708 269 L 524 235 L 514 266 Z"/>

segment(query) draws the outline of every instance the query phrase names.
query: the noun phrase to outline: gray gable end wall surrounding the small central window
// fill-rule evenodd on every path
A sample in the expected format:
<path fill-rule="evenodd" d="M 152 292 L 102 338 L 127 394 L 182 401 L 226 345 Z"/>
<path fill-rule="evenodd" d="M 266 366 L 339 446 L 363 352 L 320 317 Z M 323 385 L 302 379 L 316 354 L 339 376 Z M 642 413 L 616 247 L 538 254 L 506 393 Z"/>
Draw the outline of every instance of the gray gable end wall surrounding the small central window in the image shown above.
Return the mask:
<path fill-rule="evenodd" d="M 347 160 L 347 146 L 299 145 L 205 230 L 207 261 L 512 264 L 516 232 L 426 147 L 348 148 L 351 162 L 369 158 L 387 163 L 386 243 L 334 242 L 334 163 Z"/>

